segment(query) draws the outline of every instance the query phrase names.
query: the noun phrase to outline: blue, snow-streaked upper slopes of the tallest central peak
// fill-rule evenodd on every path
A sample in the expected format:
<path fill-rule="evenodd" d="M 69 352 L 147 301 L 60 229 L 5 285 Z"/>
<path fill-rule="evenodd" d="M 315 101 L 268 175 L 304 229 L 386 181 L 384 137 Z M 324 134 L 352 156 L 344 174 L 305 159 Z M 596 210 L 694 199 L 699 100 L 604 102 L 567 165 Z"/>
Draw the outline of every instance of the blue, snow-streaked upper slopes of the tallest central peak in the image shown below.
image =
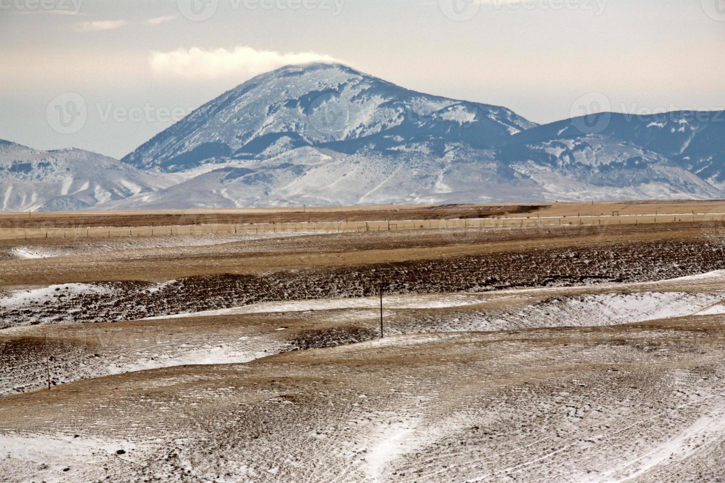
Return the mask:
<path fill-rule="evenodd" d="M 534 125 L 503 107 L 410 91 L 341 64 L 307 64 L 254 77 L 122 161 L 173 172 L 302 146 L 353 154 L 421 142 L 441 155 L 446 143 L 489 148 Z"/>

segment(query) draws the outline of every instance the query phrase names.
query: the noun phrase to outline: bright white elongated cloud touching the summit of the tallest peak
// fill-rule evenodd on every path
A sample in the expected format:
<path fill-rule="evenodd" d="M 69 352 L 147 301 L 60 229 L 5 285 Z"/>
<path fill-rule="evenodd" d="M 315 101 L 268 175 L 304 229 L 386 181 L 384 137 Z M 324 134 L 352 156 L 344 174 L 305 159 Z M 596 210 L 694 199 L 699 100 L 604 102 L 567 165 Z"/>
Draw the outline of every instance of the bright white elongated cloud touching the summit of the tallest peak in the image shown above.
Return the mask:
<path fill-rule="evenodd" d="M 199 79 L 247 79 L 288 64 L 337 62 L 333 57 L 315 52 L 258 51 L 249 46 L 206 50 L 199 47 L 169 52 L 152 52 L 151 69 L 156 77 Z"/>

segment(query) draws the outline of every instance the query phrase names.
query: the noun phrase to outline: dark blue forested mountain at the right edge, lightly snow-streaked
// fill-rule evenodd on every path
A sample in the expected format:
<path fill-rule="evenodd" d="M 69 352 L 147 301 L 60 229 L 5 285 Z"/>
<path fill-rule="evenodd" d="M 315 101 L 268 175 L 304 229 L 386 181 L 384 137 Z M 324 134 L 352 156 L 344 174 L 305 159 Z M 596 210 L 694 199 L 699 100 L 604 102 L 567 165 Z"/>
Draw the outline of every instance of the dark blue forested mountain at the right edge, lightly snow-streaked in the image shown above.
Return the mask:
<path fill-rule="evenodd" d="M 496 157 L 560 199 L 602 198 L 602 190 L 609 199 L 717 198 L 725 123 L 716 114 L 576 117 L 513 135 Z"/>

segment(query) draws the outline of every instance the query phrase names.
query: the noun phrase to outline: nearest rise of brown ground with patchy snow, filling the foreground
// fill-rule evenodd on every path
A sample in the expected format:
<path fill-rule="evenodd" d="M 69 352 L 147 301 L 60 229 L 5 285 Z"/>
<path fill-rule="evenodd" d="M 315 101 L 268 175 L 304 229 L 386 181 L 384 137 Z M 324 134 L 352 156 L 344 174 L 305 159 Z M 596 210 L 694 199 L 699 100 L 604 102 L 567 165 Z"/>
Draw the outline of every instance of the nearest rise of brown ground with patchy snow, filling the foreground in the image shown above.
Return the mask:
<path fill-rule="evenodd" d="M 14 397 L 0 445 L 33 450 L 0 464 L 68 482 L 716 482 L 710 322 L 398 335 L 93 379 Z"/>

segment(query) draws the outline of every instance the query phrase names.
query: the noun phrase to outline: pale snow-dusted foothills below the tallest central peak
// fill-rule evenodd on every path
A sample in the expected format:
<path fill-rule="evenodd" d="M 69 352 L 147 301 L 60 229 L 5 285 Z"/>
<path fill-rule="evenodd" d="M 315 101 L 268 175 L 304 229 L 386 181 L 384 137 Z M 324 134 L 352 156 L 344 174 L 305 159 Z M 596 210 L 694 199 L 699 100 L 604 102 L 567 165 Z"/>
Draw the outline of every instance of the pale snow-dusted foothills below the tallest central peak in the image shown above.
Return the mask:
<path fill-rule="evenodd" d="M 343 154 L 304 147 L 263 160 L 237 160 L 185 172 L 166 190 L 99 206 L 101 209 L 179 209 L 202 206 L 357 205 L 537 201 L 542 188 L 465 146 L 443 156 L 420 151 Z"/>

